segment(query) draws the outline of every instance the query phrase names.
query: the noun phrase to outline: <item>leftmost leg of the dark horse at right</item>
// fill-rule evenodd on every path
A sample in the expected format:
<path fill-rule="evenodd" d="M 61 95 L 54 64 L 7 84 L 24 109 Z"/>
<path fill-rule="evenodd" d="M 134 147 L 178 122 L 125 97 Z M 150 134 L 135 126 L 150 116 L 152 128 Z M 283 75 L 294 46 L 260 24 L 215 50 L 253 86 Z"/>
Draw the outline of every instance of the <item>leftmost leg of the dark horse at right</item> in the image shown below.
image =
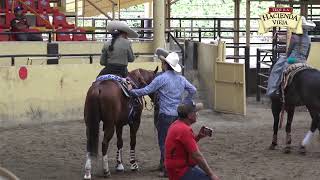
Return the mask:
<path fill-rule="evenodd" d="M 271 110 L 273 115 L 273 138 L 269 149 L 274 150 L 278 145 L 278 129 L 279 129 L 279 118 L 281 112 L 282 103 L 280 99 L 272 99 Z"/>

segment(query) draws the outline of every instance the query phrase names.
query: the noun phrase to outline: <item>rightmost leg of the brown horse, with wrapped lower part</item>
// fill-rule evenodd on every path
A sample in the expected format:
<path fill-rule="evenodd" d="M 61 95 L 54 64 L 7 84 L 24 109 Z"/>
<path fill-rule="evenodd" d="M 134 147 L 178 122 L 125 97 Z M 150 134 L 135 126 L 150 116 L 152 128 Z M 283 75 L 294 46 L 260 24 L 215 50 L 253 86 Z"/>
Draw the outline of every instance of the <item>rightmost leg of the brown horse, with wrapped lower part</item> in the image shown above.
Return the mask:
<path fill-rule="evenodd" d="M 131 171 L 136 171 L 139 169 L 139 165 L 136 160 L 135 148 L 136 148 L 136 138 L 137 132 L 140 126 L 140 118 L 136 119 L 134 123 L 130 126 L 130 164 Z"/>

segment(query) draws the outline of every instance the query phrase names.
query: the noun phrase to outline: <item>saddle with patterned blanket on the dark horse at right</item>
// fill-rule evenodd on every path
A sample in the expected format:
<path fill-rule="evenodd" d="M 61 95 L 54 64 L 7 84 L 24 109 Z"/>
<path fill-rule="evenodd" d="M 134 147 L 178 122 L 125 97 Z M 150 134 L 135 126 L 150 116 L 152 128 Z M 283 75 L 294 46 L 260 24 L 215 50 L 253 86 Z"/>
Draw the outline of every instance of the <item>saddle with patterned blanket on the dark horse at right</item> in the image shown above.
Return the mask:
<path fill-rule="evenodd" d="M 291 84 L 294 76 L 303 70 L 306 69 L 313 69 L 307 63 L 295 63 L 289 65 L 285 71 L 282 73 L 281 79 L 281 94 L 282 94 L 282 101 L 284 102 L 285 90 Z"/>

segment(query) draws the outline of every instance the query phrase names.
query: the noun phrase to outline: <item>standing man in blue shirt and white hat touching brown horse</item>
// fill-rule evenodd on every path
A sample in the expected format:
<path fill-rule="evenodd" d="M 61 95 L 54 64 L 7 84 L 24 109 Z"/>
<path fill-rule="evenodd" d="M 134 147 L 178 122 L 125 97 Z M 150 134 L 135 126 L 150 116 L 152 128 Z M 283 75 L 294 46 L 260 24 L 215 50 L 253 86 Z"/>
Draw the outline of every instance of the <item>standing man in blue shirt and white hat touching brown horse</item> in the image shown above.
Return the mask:
<path fill-rule="evenodd" d="M 163 73 L 157 76 L 148 86 L 142 89 L 130 90 L 132 96 L 144 96 L 157 93 L 159 98 L 159 115 L 156 128 L 158 131 L 158 143 L 160 148 L 160 176 L 167 176 L 164 169 L 164 142 L 169 126 L 177 119 L 177 107 L 182 102 L 185 91 L 188 95 L 186 100 L 191 100 L 196 93 L 196 88 L 183 76 L 177 74 L 181 72 L 179 56 L 177 53 L 168 53 L 166 57 L 162 53 L 164 49 L 157 49 L 156 54 L 161 60 Z"/>

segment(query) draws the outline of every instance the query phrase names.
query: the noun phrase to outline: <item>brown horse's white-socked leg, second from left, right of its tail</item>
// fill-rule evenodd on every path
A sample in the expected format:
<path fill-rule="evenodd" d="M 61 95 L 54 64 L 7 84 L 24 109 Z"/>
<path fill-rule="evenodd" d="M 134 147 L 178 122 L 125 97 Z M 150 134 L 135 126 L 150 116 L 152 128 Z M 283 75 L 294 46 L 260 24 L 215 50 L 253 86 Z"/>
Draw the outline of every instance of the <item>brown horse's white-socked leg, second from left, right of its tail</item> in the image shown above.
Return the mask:
<path fill-rule="evenodd" d="M 104 137 L 102 141 L 102 166 L 103 166 L 103 174 L 105 177 L 110 177 L 111 173 L 109 170 L 109 163 L 108 163 L 108 148 L 109 142 L 112 139 L 114 134 L 114 125 L 110 123 L 109 125 L 103 124 L 104 129 Z"/>

